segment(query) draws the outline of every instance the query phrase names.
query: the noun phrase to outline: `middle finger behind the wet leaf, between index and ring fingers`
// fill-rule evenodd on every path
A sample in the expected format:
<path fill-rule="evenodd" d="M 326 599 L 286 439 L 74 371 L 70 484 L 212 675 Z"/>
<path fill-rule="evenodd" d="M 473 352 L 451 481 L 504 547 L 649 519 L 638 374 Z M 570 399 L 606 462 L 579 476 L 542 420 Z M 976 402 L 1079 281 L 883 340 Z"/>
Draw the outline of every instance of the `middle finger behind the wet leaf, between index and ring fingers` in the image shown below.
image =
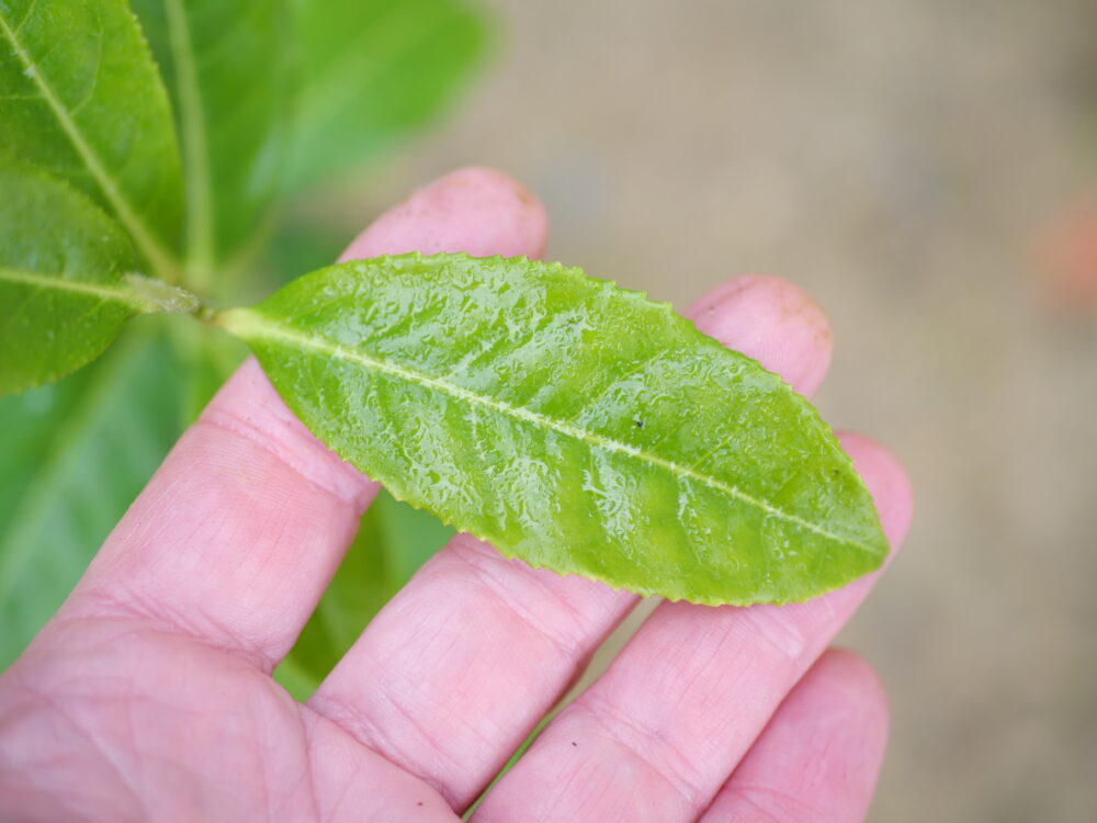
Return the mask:
<path fill-rule="evenodd" d="M 818 307 L 776 278 L 738 285 L 694 306 L 701 330 L 817 385 L 829 335 L 804 327 L 825 328 Z M 635 601 L 459 537 L 373 620 L 310 706 L 462 809 Z"/>

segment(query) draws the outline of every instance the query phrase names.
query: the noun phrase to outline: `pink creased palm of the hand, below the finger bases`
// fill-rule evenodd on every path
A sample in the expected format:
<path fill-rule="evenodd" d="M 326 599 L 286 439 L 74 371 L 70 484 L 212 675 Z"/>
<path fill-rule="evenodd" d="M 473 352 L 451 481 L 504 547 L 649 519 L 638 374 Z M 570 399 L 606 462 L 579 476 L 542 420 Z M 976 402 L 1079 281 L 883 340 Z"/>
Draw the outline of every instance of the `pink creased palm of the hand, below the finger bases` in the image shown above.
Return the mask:
<path fill-rule="evenodd" d="M 35 741 L 61 778 L 4 785 L 16 807 L 20 793 L 33 796 L 33 819 L 338 821 L 365 809 L 374 820 L 456 820 L 434 789 L 293 700 L 253 662 L 138 616 L 50 635 L 3 702 L 4 735 Z M 68 796 L 64 780 L 75 775 L 80 791 Z"/>

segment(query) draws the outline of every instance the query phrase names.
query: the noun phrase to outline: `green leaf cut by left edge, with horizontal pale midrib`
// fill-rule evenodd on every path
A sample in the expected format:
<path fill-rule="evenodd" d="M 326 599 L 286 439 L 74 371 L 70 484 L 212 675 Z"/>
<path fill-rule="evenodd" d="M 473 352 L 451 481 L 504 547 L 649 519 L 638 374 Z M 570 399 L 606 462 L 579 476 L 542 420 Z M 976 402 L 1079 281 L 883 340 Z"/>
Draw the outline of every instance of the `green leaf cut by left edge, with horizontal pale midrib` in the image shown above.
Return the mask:
<path fill-rule="evenodd" d="M 0 156 L 0 395 L 94 359 L 135 314 L 193 306 L 127 274 L 129 240 L 67 183 Z"/>

